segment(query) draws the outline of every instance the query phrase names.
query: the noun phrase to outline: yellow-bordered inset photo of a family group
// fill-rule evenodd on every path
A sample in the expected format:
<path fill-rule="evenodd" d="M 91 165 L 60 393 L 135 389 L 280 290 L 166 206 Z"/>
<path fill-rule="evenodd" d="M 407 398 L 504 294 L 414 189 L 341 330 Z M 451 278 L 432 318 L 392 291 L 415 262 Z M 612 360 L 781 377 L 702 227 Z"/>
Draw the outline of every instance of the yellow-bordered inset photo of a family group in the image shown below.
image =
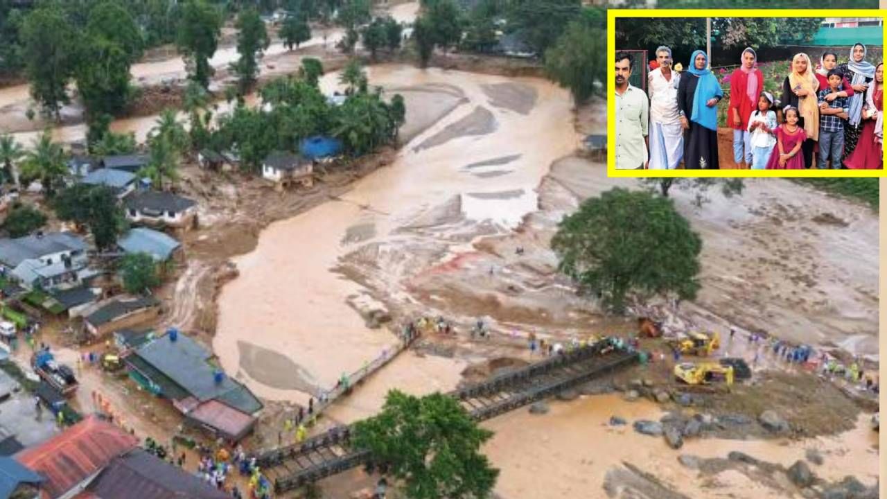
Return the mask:
<path fill-rule="evenodd" d="M 629 13 L 644 17 L 622 18 L 621 12 L 610 13 L 611 174 L 883 171 L 880 12 L 852 18 L 675 18 L 637 11 Z"/>

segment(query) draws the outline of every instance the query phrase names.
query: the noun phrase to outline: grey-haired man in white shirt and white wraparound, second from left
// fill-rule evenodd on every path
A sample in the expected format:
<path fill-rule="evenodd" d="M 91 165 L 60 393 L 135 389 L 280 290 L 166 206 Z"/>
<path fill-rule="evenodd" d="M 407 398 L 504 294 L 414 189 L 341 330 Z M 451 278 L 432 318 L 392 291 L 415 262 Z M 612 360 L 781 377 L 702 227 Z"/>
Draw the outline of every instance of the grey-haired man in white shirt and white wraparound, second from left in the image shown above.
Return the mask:
<path fill-rule="evenodd" d="M 671 49 L 656 49 L 659 67 L 647 75 L 650 96 L 650 170 L 674 170 L 684 156 L 684 130 L 678 112 L 680 75 L 671 70 Z"/>

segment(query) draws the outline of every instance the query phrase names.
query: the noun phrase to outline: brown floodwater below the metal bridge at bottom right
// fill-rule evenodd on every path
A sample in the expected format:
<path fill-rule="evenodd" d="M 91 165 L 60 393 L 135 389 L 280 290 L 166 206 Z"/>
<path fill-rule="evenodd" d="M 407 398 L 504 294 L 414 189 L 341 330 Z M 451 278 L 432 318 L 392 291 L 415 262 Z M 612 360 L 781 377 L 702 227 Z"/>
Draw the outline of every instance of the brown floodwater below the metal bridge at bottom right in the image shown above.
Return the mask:
<path fill-rule="evenodd" d="M 496 492 L 504 499 L 526 497 L 606 497 L 607 472 L 623 462 L 647 471 L 663 484 L 693 498 L 732 497 L 759 499 L 784 496 L 757 483 L 740 471 L 722 471 L 714 477 L 678 462 L 681 454 L 726 458 L 734 450 L 762 461 L 791 466 L 815 448 L 823 455 L 821 466 L 811 464 L 820 478 L 840 480 L 853 475 L 868 486 L 878 476 L 877 433 L 860 415 L 857 427 L 832 437 L 807 440 L 687 440 L 672 450 L 661 437 L 635 432 L 637 419 L 658 420 L 661 409 L 648 400 L 626 402 L 617 395 L 583 397 L 571 402 L 552 402 L 544 416 L 517 410 L 483 424 L 495 432 L 483 452 L 501 470 Z M 624 417 L 628 424 L 610 426 L 610 416 Z M 790 488 L 790 487 L 789 487 Z M 793 495 L 787 495 L 789 497 Z M 799 496 L 799 495 L 797 495 Z"/>

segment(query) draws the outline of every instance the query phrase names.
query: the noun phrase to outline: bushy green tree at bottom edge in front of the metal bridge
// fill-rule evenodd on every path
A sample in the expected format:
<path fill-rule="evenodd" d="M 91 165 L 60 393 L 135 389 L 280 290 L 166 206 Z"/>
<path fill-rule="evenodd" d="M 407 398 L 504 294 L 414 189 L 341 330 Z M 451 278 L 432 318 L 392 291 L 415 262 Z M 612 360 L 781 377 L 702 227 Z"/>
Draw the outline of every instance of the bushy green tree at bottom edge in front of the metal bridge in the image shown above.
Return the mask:
<path fill-rule="evenodd" d="M 354 426 L 355 447 L 387 464 L 412 499 L 489 497 L 498 470 L 480 448 L 491 437 L 441 393 L 418 398 L 392 390 L 378 416 Z"/>

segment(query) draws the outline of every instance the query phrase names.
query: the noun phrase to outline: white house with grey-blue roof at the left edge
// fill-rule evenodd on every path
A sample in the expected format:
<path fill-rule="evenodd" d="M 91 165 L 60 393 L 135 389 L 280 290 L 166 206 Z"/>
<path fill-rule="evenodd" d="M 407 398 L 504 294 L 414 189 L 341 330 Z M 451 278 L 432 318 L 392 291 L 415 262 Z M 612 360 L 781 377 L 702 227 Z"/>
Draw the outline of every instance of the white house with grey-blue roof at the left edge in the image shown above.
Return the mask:
<path fill-rule="evenodd" d="M 86 242 L 71 233 L 37 233 L 0 240 L 0 273 L 12 274 L 32 289 L 70 288 L 93 275 Z"/>

